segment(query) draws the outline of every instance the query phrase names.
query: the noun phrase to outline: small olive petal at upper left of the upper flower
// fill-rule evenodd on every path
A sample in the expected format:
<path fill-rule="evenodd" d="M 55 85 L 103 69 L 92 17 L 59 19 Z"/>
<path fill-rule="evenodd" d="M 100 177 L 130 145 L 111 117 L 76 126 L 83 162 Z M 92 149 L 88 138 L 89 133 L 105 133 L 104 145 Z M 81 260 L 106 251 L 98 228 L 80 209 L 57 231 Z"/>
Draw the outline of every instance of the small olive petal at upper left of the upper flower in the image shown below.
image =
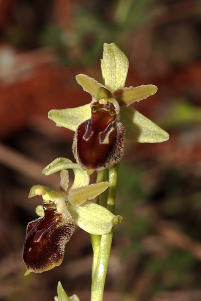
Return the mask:
<path fill-rule="evenodd" d="M 83 90 L 90 93 L 92 98 L 95 97 L 95 93 L 98 88 L 104 87 L 104 85 L 99 84 L 94 78 L 89 77 L 85 74 L 78 74 L 75 76 L 76 81 L 80 86 L 82 86 Z"/>

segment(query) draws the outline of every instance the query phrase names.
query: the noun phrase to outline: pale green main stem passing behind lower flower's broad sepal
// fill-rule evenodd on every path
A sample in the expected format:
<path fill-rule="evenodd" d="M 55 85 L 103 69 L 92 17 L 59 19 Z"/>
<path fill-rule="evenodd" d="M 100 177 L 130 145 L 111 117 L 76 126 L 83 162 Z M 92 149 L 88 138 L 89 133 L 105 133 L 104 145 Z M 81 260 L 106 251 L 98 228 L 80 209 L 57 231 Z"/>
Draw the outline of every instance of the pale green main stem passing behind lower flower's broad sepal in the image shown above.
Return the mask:
<path fill-rule="evenodd" d="M 119 165 L 114 165 L 109 169 L 109 189 L 107 198 L 107 208 L 115 213 L 116 185 Z M 113 229 L 110 233 L 102 235 L 100 238 L 91 236 L 93 247 L 92 284 L 91 301 L 103 301 L 104 286 L 108 269 Z"/>

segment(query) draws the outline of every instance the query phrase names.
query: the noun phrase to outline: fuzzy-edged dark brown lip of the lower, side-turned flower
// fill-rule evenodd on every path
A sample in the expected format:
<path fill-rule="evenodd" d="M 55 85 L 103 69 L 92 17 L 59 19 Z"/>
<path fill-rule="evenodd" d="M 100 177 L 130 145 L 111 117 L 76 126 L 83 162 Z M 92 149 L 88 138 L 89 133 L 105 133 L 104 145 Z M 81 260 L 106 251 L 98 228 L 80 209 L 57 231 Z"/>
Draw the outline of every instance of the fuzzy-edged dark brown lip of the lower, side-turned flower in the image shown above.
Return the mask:
<path fill-rule="evenodd" d="M 74 232 L 73 220 L 63 224 L 62 214 L 53 202 L 43 205 L 44 217 L 27 226 L 23 247 L 23 260 L 28 275 L 31 271 L 42 273 L 60 265 L 66 243 Z"/>

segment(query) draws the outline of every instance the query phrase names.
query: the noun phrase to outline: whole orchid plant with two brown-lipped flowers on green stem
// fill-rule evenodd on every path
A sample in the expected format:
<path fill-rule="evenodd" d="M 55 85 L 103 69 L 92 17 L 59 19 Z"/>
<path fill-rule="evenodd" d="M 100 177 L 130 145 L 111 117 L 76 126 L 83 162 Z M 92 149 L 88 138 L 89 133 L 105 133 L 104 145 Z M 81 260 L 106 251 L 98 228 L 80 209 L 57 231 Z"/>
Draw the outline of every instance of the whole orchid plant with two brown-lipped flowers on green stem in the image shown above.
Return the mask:
<path fill-rule="evenodd" d="M 72 150 L 77 163 L 57 158 L 42 173 L 60 172 L 60 189 L 42 185 L 31 188 L 29 197 L 42 196 L 36 208 L 39 218 L 27 226 L 23 260 L 27 271 L 41 273 L 60 265 L 66 243 L 75 225 L 88 232 L 93 249 L 91 301 L 102 301 L 112 243 L 113 226 L 123 222 L 115 215 L 116 184 L 119 162 L 124 154 L 124 140 L 162 142 L 169 135 L 130 106 L 156 93 L 154 85 L 125 88 L 128 72 L 126 55 L 114 44 L 104 44 L 101 60 L 105 84 L 78 74 L 76 80 L 92 96 L 89 104 L 51 110 L 48 117 L 57 126 L 75 131 Z M 74 183 L 68 188 L 68 169 Z M 107 173 L 107 169 L 109 172 Z M 89 176 L 97 172 L 95 184 Z M 87 201 L 96 198 L 96 203 Z M 61 283 L 55 301 L 78 301 L 68 297 Z"/>

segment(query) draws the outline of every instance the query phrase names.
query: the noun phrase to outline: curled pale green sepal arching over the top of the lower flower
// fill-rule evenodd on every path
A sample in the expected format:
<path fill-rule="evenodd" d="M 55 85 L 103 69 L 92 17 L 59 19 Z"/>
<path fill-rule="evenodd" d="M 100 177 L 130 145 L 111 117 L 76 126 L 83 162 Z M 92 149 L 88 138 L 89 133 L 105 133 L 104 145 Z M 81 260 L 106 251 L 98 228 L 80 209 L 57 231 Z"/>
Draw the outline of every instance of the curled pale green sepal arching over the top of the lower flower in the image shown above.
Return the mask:
<path fill-rule="evenodd" d="M 48 164 L 46 168 L 44 168 L 42 174 L 49 176 L 63 169 L 72 169 L 75 174 L 75 179 L 70 189 L 81 186 L 87 186 L 89 184 L 90 178 L 87 172 L 83 171 L 79 164 L 72 163 L 71 160 L 66 158 L 55 159 L 53 162 Z"/>

